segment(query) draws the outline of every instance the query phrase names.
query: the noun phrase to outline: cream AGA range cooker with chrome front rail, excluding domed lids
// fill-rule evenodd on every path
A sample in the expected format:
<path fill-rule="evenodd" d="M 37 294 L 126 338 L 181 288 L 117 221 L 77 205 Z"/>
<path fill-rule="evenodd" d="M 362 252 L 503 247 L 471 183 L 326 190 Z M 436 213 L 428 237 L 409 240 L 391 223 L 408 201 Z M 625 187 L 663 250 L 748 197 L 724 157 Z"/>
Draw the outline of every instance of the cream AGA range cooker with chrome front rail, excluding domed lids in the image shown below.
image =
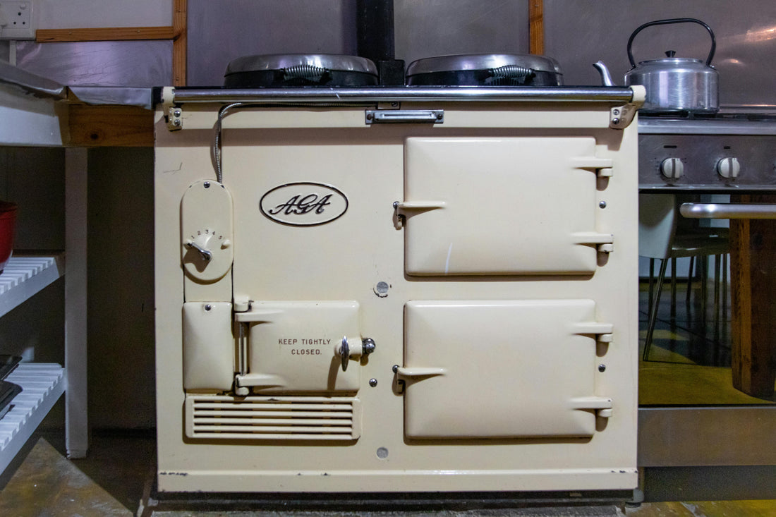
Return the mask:
<path fill-rule="evenodd" d="M 164 88 L 159 491 L 636 487 L 643 96 Z"/>

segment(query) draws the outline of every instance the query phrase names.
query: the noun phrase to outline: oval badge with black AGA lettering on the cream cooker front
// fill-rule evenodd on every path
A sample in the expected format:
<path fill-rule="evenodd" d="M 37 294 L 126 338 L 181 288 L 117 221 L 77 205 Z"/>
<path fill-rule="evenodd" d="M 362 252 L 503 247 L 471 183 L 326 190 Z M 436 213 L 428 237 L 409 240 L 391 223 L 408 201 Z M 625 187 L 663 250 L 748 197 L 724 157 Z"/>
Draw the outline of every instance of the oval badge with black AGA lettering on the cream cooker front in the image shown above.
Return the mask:
<path fill-rule="evenodd" d="M 348 198 L 331 185 L 295 182 L 269 190 L 258 207 L 275 223 L 317 226 L 342 217 L 348 210 Z"/>

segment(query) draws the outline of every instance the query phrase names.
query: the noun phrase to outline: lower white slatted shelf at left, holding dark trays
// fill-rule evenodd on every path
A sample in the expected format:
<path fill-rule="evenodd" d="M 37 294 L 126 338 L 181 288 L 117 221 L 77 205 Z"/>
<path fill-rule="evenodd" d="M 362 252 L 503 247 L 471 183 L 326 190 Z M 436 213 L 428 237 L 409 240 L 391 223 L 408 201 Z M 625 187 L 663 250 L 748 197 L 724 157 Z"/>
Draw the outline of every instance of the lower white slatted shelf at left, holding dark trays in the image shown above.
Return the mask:
<path fill-rule="evenodd" d="M 61 397 L 64 368 L 55 363 L 20 363 L 5 380 L 19 384 L 23 391 L 13 398 L 12 408 L 0 418 L 0 472 L 8 467 Z"/>

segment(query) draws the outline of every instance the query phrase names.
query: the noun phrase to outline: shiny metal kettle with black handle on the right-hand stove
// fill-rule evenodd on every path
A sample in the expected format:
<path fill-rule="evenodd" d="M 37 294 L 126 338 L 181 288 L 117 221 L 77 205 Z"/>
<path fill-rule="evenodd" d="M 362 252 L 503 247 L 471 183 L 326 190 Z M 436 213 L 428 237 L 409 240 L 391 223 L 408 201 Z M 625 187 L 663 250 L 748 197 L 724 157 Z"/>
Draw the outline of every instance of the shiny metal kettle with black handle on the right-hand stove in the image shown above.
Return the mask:
<path fill-rule="evenodd" d="M 652 61 L 633 60 L 631 46 L 636 34 L 649 26 L 670 23 L 698 23 L 708 30 L 712 47 L 706 61 L 690 57 L 675 57 L 674 50 L 668 50 L 666 57 Z M 660 19 L 645 23 L 633 31 L 628 40 L 628 59 L 631 69 L 625 73 L 625 85 L 644 85 L 646 101 L 641 111 L 647 113 L 716 113 L 719 109 L 719 73 L 712 68 L 716 40 L 711 27 L 695 18 Z M 605 65 L 598 61 L 594 65 L 601 76 L 611 83 Z"/>

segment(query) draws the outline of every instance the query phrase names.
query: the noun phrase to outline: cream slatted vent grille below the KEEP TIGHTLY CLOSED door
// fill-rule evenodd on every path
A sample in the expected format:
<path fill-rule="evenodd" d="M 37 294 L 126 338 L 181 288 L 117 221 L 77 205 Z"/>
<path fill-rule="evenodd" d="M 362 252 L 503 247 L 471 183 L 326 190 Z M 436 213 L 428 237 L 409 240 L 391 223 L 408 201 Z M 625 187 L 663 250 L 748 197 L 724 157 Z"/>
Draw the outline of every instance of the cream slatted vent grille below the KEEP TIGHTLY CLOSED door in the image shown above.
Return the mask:
<path fill-rule="evenodd" d="M 185 426 L 200 439 L 359 439 L 356 397 L 186 395 Z"/>

